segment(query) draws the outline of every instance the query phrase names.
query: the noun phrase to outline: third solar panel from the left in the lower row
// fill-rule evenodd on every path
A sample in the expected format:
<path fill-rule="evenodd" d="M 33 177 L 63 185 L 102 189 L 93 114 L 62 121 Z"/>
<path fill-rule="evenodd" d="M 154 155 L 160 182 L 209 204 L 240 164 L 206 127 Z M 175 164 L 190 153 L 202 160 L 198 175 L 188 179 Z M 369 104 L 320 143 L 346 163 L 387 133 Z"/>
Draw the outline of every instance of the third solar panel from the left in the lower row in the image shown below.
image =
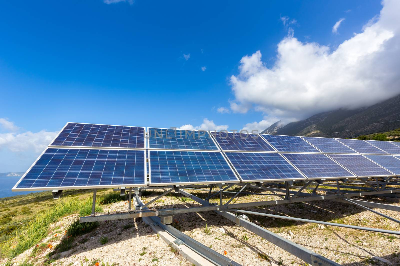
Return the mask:
<path fill-rule="evenodd" d="M 278 153 L 225 152 L 225 154 L 243 181 L 305 179 Z"/>

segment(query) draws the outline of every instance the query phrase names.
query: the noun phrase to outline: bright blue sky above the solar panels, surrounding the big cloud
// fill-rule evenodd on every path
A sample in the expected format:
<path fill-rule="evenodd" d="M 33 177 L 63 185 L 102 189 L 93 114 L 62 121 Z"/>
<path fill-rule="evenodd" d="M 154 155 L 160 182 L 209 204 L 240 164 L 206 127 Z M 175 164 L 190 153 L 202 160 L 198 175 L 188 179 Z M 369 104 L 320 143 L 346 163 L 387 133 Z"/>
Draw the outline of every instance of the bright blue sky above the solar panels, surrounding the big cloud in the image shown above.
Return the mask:
<path fill-rule="evenodd" d="M 46 145 L 40 139 L 68 121 L 198 128 L 208 119 L 240 130 L 324 110 L 247 97 L 245 69 L 254 64 L 241 60 L 279 68 L 278 45 L 288 39 L 331 54 L 381 10 L 365 0 L 3 1 L 0 172 L 26 170 Z M 12 143 L 18 138 L 26 146 Z"/>

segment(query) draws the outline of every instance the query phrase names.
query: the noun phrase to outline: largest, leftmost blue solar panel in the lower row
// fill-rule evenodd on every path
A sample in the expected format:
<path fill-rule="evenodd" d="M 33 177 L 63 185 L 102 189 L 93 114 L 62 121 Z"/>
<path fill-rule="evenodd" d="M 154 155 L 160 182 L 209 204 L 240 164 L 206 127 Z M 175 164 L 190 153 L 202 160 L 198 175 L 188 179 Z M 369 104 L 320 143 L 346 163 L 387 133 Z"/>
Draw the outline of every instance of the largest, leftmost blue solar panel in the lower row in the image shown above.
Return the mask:
<path fill-rule="evenodd" d="M 47 148 L 13 189 L 146 185 L 144 150 Z"/>

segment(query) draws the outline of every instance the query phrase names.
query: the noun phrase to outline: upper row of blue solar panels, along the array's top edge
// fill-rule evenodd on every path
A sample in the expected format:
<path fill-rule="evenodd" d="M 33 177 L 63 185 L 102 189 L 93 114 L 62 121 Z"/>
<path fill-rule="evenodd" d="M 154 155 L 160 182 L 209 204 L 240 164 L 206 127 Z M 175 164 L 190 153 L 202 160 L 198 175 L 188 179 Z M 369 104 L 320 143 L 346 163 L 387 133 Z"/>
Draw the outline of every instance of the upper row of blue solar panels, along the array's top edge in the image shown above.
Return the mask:
<path fill-rule="evenodd" d="M 148 148 L 400 155 L 400 142 L 240 134 L 148 128 Z M 215 139 L 215 142 L 213 140 Z M 50 144 L 69 147 L 145 148 L 145 128 L 68 123 Z"/>

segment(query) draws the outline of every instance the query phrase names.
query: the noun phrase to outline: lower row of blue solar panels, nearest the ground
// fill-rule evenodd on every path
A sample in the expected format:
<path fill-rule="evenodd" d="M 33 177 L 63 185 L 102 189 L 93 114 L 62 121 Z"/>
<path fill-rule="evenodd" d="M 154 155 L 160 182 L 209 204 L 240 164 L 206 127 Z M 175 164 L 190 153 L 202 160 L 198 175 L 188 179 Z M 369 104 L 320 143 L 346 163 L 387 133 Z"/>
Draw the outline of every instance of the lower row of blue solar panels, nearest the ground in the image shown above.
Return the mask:
<path fill-rule="evenodd" d="M 400 156 L 149 150 L 150 185 L 400 175 Z M 343 167 L 344 166 L 344 167 Z M 47 148 L 14 189 L 146 185 L 144 150 Z"/>

